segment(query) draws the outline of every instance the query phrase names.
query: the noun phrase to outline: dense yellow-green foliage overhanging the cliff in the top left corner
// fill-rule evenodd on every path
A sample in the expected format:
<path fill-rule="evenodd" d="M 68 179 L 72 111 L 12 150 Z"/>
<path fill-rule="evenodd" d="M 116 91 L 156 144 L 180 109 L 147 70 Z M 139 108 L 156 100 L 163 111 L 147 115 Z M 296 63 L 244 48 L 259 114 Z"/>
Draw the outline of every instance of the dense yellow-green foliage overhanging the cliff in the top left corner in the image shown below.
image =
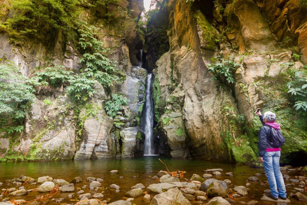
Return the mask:
<path fill-rule="evenodd" d="M 10 0 L 12 18 L 2 28 L 21 36 L 34 36 L 50 43 L 57 31 L 76 27 L 80 13 L 78 0 Z"/>

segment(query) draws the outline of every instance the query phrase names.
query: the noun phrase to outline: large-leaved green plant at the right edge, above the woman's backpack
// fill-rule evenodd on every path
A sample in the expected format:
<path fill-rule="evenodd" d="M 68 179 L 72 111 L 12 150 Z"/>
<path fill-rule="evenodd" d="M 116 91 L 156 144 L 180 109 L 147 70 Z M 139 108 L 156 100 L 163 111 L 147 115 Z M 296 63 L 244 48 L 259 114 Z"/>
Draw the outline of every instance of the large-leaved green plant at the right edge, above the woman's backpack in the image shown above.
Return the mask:
<path fill-rule="evenodd" d="M 295 100 L 294 107 L 305 116 L 307 112 L 307 72 L 289 69 L 292 81 L 287 83 L 288 93 Z"/>

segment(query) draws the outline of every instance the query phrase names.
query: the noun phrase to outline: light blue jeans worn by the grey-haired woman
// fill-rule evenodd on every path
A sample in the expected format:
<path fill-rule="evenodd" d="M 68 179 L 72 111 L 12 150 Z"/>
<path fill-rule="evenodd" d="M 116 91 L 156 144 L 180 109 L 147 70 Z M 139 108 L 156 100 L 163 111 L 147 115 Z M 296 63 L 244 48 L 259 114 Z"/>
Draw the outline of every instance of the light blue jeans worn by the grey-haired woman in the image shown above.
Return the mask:
<path fill-rule="evenodd" d="M 268 178 L 271 195 L 278 198 L 287 197 L 286 186 L 279 166 L 280 151 L 266 152 L 263 156 L 263 167 Z M 278 188 L 278 191 L 277 191 Z"/>

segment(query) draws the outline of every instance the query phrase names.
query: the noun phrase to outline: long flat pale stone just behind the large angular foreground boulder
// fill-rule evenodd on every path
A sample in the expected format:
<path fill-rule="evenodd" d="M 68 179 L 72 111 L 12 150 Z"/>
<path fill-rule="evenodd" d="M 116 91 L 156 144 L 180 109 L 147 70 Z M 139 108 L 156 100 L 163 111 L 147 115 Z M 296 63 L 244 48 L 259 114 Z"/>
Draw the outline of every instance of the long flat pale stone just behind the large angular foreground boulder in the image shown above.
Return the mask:
<path fill-rule="evenodd" d="M 191 182 L 189 183 L 188 182 L 169 182 L 169 183 L 150 184 L 149 187 L 147 187 L 147 189 L 161 194 L 174 187 L 177 187 L 177 188 L 186 187 L 186 188 L 192 188 L 192 189 L 196 188 L 195 184 Z"/>

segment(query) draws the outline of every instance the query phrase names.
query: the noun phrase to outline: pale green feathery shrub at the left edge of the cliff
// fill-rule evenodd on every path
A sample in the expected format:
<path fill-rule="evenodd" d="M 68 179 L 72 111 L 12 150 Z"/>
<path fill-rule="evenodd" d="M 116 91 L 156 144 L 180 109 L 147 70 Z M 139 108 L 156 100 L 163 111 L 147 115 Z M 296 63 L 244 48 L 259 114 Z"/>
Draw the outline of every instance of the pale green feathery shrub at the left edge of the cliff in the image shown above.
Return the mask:
<path fill-rule="evenodd" d="M 0 115 L 9 114 L 16 120 L 23 120 L 27 112 L 27 102 L 32 102 L 33 86 L 12 64 L 0 64 Z"/>

